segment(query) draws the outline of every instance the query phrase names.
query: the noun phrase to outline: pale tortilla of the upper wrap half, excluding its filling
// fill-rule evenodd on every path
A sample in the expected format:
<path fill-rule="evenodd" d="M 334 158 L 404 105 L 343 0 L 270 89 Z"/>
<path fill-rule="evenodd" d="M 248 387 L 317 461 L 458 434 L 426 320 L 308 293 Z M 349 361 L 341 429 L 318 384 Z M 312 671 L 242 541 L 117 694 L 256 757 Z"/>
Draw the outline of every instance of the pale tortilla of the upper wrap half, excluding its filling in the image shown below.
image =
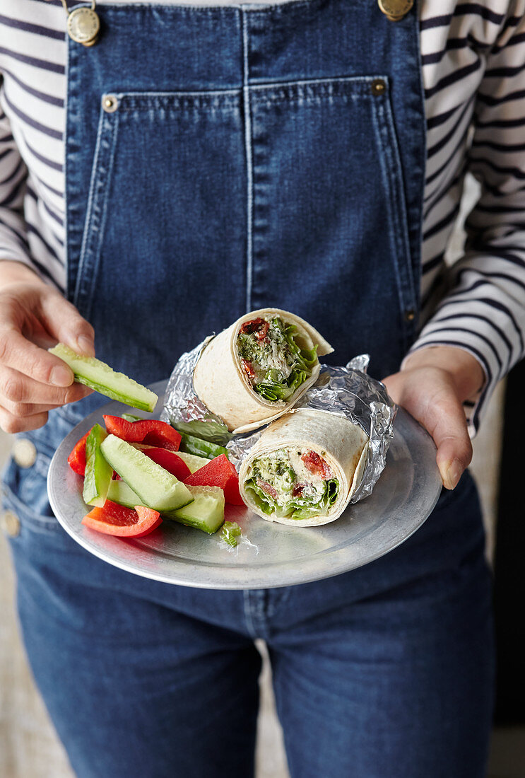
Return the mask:
<path fill-rule="evenodd" d="M 240 363 L 237 352 L 237 336 L 245 321 L 257 317 L 278 316 L 285 324 L 295 324 L 297 336 L 305 349 L 317 345 L 317 356 L 330 354 L 334 349 L 307 321 L 278 308 L 261 308 L 241 316 L 226 330 L 219 332 L 205 345 L 193 373 L 195 394 L 206 407 L 225 422 L 230 432 L 243 433 L 278 419 L 289 411 L 296 401 L 314 384 L 319 376 L 320 364 L 313 366 L 310 378 L 288 400 L 271 402 L 254 391 Z"/>

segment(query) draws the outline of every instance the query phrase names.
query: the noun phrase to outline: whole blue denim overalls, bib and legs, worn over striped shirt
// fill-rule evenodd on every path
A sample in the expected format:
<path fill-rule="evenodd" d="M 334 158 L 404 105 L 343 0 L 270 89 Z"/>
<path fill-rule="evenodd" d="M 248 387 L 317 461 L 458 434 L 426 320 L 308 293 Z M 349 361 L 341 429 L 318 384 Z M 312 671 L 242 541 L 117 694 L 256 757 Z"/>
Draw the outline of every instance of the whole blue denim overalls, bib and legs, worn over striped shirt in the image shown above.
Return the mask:
<path fill-rule="evenodd" d="M 69 41 L 68 298 L 146 384 L 245 311 L 282 307 L 395 372 L 415 338 L 425 173 L 416 9 L 375 0 L 97 6 Z M 5 504 L 31 664 L 79 778 L 253 769 L 268 643 L 294 778 L 476 778 L 492 702 L 489 580 L 466 476 L 404 545 L 269 591 L 125 573 L 68 538 L 49 457 L 103 400 L 29 433 Z"/>

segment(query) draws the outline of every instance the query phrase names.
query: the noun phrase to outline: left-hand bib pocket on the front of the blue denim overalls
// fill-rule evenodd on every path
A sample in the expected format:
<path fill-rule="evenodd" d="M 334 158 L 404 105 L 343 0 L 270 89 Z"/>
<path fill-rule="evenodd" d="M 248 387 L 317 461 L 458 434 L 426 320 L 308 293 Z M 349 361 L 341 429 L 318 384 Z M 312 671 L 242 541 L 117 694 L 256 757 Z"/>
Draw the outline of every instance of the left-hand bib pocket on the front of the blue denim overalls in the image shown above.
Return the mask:
<path fill-rule="evenodd" d="M 101 97 L 74 302 L 143 383 L 244 310 L 240 90 Z"/>

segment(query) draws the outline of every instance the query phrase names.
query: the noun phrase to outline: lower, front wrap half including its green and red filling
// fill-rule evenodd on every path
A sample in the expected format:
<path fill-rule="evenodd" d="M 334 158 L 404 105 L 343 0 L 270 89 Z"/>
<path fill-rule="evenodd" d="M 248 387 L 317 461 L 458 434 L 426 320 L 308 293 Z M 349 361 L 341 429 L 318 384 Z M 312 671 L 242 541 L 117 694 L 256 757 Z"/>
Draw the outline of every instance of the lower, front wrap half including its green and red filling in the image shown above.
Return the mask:
<path fill-rule="evenodd" d="M 362 480 L 368 436 L 338 414 L 310 408 L 264 429 L 239 473 L 240 493 L 263 519 L 318 527 L 341 516 Z"/>

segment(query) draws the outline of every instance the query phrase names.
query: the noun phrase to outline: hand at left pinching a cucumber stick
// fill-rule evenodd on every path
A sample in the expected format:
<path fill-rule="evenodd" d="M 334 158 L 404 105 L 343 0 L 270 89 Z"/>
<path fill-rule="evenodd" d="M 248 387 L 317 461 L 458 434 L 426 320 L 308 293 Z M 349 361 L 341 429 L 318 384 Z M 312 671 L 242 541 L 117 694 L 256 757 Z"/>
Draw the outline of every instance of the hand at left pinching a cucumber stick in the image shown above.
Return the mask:
<path fill-rule="evenodd" d="M 51 408 L 92 391 L 74 384 L 72 370 L 47 348 L 57 342 L 93 356 L 93 328 L 30 268 L 0 262 L 0 426 L 6 433 L 37 429 Z"/>

